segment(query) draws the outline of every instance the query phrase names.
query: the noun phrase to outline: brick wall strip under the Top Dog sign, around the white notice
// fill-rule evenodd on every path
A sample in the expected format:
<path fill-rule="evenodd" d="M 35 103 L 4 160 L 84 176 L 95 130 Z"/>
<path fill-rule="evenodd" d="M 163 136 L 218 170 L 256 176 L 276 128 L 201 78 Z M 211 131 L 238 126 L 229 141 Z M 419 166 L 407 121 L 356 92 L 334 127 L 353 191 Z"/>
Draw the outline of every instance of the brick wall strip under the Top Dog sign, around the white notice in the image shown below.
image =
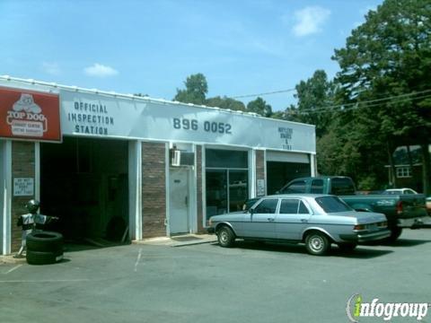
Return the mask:
<path fill-rule="evenodd" d="M 35 155 L 34 143 L 13 141 L 12 143 L 12 183 L 14 178 L 34 179 Z M 22 228 L 16 225 L 18 218 L 26 214 L 24 205 L 34 196 L 12 196 L 12 252 L 21 247 Z"/>

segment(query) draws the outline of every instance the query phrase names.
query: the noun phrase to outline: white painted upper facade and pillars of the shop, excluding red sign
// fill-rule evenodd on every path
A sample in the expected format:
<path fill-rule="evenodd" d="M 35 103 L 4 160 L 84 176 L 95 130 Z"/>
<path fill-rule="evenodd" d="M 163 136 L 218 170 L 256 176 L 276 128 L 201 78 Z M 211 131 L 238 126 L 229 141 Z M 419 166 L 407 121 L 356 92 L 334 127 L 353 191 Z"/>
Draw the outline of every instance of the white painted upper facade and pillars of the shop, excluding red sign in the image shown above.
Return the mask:
<path fill-rule="evenodd" d="M 249 152 L 249 196 L 256 196 L 256 149 L 279 158 L 302 159 L 311 156 L 315 174 L 315 127 L 283 120 L 261 118 L 255 114 L 167 100 L 135 97 L 113 92 L 99 92 L 76 87 L 13 79 L 0 76 L 0 86 L 59 95 L 62 135 L 126 139 L 128 144 L 129 230 L 132 240 L 141 240 L 142 232 L 142 156 L 141 142 L 166 143 L 166 179 L 169 179 L 169 145 L 202 145 L 202 196 L 205 224 L 206 160 L 205 149 L 241 149 Z M 11 252 L 11 187 L 12 150 L 10 141 L 0 140 L 0 232 L 1 252 Z M 268 151 L 268 153 L 267 153 Z M 40 144 L 36 143 L 35 195 L 40 197 Z M 284 157 L 285 156 L 285 157 Z M 196 160 L 196 156 L 195 156 Z M 266 168 L 266 162 L 265 162 Z M 266 170 L 265 170 L 266 174 Z M 193 192 L 191 231 L 198 230 L 196 221 L 196 169 L 190 171 Z M 167 182 L 169 188 L 169 182 Z M 265 189 L 267 189 L 265 179 Z M 169 189 L 166 199 L 169 205 Z M 167 216 L 169 216 L 167 206 Z M 167 231 L 169 235 L 169 231 Z"/>

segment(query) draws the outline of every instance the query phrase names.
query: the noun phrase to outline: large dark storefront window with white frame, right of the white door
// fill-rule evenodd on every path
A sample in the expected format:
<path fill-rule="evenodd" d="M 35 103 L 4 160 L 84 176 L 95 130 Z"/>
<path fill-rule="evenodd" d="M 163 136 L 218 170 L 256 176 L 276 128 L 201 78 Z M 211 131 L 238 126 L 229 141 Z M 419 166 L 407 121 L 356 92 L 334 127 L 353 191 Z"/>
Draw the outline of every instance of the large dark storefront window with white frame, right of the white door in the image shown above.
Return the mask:
<path fill-rule="evenodd" d="M 241 211 L 249 196 L 247 152 L 207 149 L 207 220 Z"/>

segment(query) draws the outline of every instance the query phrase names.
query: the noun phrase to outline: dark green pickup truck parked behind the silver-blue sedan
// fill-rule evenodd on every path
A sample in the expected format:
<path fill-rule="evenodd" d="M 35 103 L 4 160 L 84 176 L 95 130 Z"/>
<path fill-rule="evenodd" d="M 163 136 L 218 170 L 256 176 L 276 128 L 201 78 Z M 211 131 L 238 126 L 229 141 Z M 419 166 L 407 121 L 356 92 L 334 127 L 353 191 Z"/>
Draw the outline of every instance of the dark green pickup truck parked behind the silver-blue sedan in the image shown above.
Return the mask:
<path fill-rule="evenodd" d="M 294 179 L 280 188 L 278 193 L 315 193 L 339 196 L 356 211 L 383 213 L 388 219 L 390 240 L 397 240 L 402 228 L 420 228 L 429 221 L 423 194 L 357 195 L 352 179 L 345 176 L 320 176 Z M 259 198 L 245 202 L 246 207 Z"/>

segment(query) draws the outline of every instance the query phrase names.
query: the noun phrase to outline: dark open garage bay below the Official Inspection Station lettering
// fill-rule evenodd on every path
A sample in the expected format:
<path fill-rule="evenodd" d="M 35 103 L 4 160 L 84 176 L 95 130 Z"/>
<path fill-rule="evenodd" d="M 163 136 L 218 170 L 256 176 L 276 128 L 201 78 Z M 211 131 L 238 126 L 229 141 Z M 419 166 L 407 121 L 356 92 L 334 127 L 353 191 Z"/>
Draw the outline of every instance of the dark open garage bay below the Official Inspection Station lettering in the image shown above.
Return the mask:
<path fill-rule="evenodd" d="M 126 242 L 128 142 L 65 137 L 40 144 L 40 213 L 59 217 L 66 240 Z"/>

